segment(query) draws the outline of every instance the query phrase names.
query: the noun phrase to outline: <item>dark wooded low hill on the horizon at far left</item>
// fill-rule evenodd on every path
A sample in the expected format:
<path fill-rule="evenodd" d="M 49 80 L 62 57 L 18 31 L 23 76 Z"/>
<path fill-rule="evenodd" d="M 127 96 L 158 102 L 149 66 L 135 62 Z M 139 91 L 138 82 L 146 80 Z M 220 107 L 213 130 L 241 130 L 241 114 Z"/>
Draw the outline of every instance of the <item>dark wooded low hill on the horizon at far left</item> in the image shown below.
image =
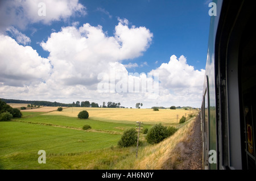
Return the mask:
<path fill-rule="evenodd" d="M 58 102 L 49 102 L 45 100 L 17 100 L 17 99 L 2 99 L 3 102 L 6 103 L 19 103 L 19 104 L 32 104 L 36 106 L 51 106 L 51 107 L 69 107 L 72 106 L 72 104 L 64 104 L 64 103 L 58 103 Z"/>

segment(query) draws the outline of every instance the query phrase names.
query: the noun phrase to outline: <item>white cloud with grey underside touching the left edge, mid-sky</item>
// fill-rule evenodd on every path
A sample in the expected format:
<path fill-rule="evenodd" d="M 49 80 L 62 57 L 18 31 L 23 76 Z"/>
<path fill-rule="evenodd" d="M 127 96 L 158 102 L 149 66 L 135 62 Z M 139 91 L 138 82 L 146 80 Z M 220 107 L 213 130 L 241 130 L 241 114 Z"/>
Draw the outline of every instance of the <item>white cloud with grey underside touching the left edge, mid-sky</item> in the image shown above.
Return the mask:
<path fill-rule="evenodd" d="M 27 86 L 46 81 L 51 64 L 30 46 L 19 45 L 0 34 L 0 82 L 9 86 Z"/>

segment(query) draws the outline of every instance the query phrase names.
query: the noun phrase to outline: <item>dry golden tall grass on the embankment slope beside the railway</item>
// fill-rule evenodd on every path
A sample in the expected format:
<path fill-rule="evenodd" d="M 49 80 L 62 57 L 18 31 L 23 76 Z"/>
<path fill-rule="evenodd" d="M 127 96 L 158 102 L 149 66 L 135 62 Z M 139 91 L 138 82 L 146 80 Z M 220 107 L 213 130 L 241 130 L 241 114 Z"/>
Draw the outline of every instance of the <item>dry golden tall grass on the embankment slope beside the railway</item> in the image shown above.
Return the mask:
<path fill-rule="evenodd" d="M 119 162 L 114 169 L 176 169 L 176 165 L 180 163 L 180 153 L 175 149 L 176 145 L 180 142 L 189 141 L 194 123 L 195 119 L 187 121 L 183 127 L 166 140 L 139 149 L 138 159 L 135 159 L 134 154 L 130 155 Z"/>

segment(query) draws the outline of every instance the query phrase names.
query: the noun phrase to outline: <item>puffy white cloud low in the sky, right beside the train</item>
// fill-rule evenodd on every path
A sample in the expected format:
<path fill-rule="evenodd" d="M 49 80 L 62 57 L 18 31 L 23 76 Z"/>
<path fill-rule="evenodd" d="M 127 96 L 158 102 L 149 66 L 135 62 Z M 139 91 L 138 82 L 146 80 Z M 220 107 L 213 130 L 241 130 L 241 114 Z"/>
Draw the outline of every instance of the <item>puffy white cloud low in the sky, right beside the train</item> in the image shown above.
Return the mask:
<path fill-rule="evenodd" d="M 172 55 L 168 63 L 163 63 L 151 73 L 159 74 L 159 92 L 166 98 L 179 105 L 198 105 L 201 102 L 201 92 L 204 82 L 205 70 L 195 70 L 187 64 L 187 58 Z M 164 97 L 164 96 L 163 96 Z M 163 100 L 164 101 L 164 100 Z"/>

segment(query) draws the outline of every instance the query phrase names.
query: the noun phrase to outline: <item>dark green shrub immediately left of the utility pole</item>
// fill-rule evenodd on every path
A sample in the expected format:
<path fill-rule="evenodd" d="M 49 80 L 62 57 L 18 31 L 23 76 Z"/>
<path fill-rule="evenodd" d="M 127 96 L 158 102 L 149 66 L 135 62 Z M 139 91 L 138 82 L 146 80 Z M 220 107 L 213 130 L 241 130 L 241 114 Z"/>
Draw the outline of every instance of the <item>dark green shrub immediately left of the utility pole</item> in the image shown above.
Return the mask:
<path fill-rule="evenodd" d="M 135 146 L 137 144 L 137 132 L 135 128 L 127 129 L 123 132 L 121 140 L 117 145 L 121 147 Z"/>

